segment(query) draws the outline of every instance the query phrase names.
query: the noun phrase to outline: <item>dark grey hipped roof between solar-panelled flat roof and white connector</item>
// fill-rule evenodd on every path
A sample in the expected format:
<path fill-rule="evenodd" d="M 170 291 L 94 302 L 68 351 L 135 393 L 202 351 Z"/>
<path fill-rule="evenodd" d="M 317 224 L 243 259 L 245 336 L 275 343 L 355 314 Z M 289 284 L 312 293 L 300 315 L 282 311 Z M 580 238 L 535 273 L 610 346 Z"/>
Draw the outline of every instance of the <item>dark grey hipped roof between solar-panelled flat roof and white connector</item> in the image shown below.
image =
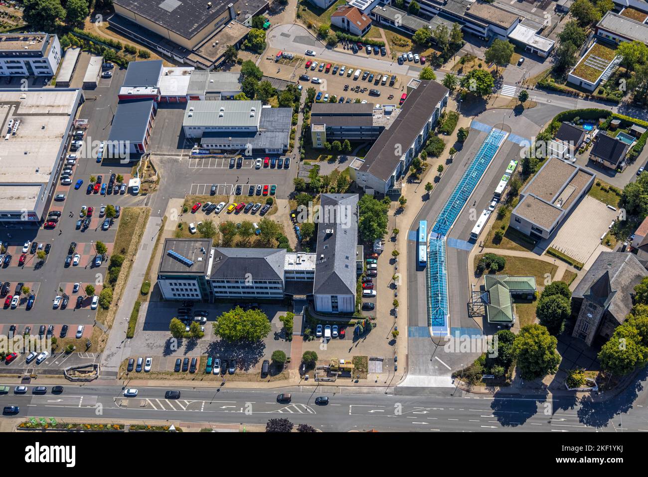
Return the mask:
<path fill-rule="evenodd" d="M 210 278 L 283 282 L 285 257 L 284 248 L 216 248 Z"/>

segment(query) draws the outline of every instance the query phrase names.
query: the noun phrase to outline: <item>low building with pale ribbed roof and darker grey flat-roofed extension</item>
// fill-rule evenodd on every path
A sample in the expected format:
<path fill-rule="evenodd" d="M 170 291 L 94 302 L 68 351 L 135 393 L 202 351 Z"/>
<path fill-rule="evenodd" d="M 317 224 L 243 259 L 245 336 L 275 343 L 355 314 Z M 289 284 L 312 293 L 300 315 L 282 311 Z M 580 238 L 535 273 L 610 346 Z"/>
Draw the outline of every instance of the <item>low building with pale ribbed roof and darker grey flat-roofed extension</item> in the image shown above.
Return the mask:
<path fill-rule="evenodd" d="M 200 139 L 208 150 L 282 154 L 290 145 L 292 108 L 271 108 L 260 101 L 192 100 L 182 127 L 185 137 Z"/>

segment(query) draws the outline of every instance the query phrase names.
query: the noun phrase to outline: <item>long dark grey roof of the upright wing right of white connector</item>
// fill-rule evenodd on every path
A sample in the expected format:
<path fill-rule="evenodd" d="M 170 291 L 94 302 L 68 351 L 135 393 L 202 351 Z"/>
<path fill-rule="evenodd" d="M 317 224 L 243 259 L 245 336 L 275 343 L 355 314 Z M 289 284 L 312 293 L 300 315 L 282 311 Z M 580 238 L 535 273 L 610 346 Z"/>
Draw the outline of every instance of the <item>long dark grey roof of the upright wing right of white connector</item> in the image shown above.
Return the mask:
<path fill-rule="evenodd" d="M 315 264 L 316 295 L 356 294 L 356 247 L 358 245 L 358 194 L 321 194 L 322 213 L 318 224 Z M 338 207 L 347 215 L 325 216 Z M 324 222 L 326 220 L 326 222 Z M 348 224 L 348 227 L 345 225 Z M 332 233 L 327 233 L 332 230 Z"/>

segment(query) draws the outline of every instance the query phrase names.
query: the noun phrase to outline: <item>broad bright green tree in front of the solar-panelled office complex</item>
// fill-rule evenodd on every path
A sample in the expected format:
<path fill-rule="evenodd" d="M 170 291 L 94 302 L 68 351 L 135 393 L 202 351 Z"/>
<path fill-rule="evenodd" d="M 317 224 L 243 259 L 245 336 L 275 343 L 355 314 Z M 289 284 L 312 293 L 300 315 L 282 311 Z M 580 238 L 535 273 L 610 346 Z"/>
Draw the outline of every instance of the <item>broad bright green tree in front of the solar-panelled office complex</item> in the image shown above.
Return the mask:
<path fill-rule="evenodd" d="M 236 307 L 222 313 L 213 323 L 214 334 L 229 342 L 257 342 L 270 333 L 270 320 L 261 310 Z"/>

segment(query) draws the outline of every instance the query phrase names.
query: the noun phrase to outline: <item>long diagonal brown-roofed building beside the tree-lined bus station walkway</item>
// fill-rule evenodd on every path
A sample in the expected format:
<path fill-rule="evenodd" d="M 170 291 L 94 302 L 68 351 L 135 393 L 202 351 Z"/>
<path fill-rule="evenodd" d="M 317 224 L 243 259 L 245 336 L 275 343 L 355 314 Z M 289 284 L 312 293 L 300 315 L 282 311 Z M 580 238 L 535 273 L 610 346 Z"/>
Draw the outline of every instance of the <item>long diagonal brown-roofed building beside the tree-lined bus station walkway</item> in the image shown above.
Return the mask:
<path fill-rule="evenodd" d="M 400 194 L 401 180 L 448 104 L 448 88 L 435 81 L 411 80 L 408 97 L 393 124 L 361 159 L 351 161 L 351 178 L 365 192 Z"/>

